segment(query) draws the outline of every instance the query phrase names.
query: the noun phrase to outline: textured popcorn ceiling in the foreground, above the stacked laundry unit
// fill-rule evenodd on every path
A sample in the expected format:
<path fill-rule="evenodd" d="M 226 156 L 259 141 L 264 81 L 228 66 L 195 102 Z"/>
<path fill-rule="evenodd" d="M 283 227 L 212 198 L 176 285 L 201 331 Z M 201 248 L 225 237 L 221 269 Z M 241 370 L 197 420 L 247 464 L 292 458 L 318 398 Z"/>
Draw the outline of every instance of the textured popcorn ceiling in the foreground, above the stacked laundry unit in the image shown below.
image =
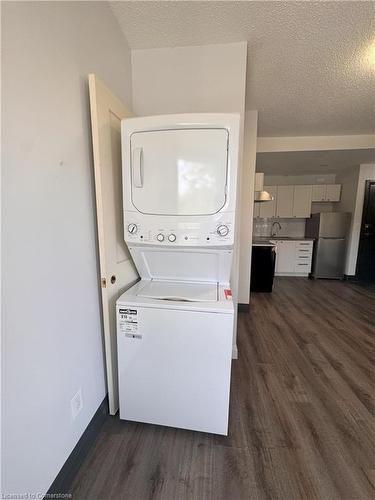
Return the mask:
<path fill-rule="evenodd" d="M 260 136 L 375 130 L 373 2 L 110 3 L 132 49 L 247 40 Z"/>

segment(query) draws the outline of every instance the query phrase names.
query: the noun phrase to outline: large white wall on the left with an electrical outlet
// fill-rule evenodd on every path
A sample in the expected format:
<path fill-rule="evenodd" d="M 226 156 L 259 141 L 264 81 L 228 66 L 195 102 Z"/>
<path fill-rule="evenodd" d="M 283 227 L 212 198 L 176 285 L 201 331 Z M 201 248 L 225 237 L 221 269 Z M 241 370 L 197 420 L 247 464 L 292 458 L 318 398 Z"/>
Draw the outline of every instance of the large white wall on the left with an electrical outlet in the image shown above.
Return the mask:
<path fill-rule="evenodd" d="M 130 51 L 106 2 L 2 9 L 3 493 L 43 494 L 106 393 L 87 74 L 130 105 Z"/>

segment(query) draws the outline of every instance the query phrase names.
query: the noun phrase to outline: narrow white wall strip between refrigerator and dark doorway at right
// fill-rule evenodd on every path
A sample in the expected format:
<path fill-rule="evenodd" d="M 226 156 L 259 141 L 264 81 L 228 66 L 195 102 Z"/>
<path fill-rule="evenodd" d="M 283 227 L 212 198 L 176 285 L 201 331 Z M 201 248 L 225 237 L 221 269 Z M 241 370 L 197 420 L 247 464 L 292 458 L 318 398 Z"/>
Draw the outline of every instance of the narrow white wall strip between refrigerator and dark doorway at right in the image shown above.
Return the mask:
<path fill-rule="evenodd" d="M 345 274 L 347 274 L 348 276 L 354 276 L 357 265 L 359 237 L 361 234 L 365 184 L 367 180 L 375 180 L 375 164 L 360 165 L 359 169 L 348 172 L 348 178 L 344 180 L 345 186 L 347 186 L 346 191 L 348 191 L 348 194 L 345 195 L 345 198 L 341 203 L 340 211 L 349 211 L 353 213 L 349 232 Z M 354 193 L 352 189 L 350 189 L 351 184 L 353 188 L 355 188 L 356 186 L 355 196 L 353 196 Z M 355 198 L 354 203 L 353 198 Z"/>

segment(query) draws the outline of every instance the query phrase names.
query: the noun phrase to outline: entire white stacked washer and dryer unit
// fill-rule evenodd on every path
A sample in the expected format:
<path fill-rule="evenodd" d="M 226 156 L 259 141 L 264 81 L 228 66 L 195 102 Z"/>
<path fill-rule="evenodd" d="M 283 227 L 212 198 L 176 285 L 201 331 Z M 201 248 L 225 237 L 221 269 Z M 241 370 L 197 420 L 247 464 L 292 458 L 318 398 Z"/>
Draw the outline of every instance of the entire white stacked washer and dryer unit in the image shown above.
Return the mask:
<path fill-rule="evenodd" d="M 226 435 L 239 115 L 132 118 L 121 133 L 141 280 L 117 301 L 120 418 Z"/>

